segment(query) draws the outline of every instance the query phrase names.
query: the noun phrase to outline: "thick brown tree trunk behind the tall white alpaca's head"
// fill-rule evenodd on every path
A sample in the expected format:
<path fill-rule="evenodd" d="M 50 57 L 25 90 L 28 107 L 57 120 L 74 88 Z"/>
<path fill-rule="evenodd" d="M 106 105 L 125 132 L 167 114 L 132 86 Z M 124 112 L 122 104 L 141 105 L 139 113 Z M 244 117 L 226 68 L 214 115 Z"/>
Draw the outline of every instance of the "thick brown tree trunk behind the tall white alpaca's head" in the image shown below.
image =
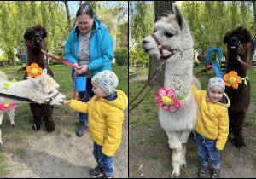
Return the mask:
<path fill-rule="evenodd" d="M 167 14 L 173 13 L 172 3 L 175 3 L 175 1 L 154 1 L 154 14 L 155 14 L 154 22 L 159 20 L 161 16 L 166 16 L 166 13 Z M 165 61 L 165 60 L 157 60 L 155 56 L 149 56 L 148 79 L 151 78 L 154 71 L 160 65 L 161 61 Z M 156 86 L 164 87 L 165 71 L 166 71 L 166 63 L 162 66 L 160 77 L 155 82 Z M 154 82 L 154 78 L 151 81 L 150 85 L 152 85 L 153 82 Z"/>

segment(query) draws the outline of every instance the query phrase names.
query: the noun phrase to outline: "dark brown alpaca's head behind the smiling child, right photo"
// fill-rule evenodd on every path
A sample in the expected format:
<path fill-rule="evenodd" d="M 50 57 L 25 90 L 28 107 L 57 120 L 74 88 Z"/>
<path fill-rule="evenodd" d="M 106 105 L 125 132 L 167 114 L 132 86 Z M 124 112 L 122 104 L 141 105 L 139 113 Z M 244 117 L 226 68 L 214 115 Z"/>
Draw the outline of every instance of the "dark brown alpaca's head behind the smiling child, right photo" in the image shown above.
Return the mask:
<path fill-rule="evenodd" d="M 251 33 L 242 26 L 226 32 L 223 42 L 224 44 L 227 43 L 228 52 L 232 55 L 247 55 L 250 49 L 252 52 L 255 49 Z"/>

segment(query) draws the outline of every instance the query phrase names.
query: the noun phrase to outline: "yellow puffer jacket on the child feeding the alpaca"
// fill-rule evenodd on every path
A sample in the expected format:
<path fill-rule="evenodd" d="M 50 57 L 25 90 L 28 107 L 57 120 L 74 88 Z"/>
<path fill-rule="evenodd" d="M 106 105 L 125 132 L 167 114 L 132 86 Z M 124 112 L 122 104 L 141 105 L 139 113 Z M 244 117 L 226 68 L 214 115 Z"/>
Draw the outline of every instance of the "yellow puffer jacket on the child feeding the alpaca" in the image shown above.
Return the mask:
<path fill-rule="evenodd" d="M 88 113 L 90 136 L 102 146 L 102 153 L 113 156 L 119 148 L 122 138 L 124 110 L 128 106 L 128 97 L 121 90 L 116 90 L 118 97 L 113 101 L 103 98 L 95 100 L 95 96 L 87 103 L 71 100 L 69 107 Z"/>

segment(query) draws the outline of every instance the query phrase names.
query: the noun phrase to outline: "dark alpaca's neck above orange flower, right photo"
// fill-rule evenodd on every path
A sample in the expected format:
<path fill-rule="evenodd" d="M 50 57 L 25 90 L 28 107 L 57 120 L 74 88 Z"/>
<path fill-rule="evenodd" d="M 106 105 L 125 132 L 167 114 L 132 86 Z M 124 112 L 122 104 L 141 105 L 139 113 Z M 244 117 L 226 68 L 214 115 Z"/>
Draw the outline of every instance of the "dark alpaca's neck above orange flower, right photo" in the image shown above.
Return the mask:
<path fill-rule="evenodd" d="M 241 61 L 248 62 L 248 55 L 249 53 L 245 53 L 244 55 L 240 55 Z M 244 66 L 241 64 L 240 61 L 237 60 L 237 54 L 231 53 L 230 50 L 228 50 L 228 59 L 227 59 L 227 67 L 226 67 L 226 73 L 229 73 L 230 71 L 236 71 L 237 75 L 241 78 L 244 78 L 247 76 L 247 66 Z"/>

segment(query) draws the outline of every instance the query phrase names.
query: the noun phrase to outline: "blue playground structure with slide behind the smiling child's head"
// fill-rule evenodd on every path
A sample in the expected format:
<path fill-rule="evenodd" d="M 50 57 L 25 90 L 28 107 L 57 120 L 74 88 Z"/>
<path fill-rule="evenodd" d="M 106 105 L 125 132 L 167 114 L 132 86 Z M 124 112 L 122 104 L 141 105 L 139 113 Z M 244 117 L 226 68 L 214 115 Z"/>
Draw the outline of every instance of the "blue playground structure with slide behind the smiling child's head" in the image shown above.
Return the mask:
<path fill-rule="evenodd" d="M 216 52 L 217 55 L 214 61 L 214 58 L 211 58 L 212 56 L 212 52 Z M 207 54 L 207 56 L 206 56 Z M 221 61 L 221 49 L 220 48 L 212 48 L 209 49 L 207 48 L 207 52 L 203 55 L 203 56 L 198 56 L 197 57 L 199 61 L 201 61 L 201 65 L 202 65 L 202 70 L 198 71 L 196 73 L 196 75 L 198 75 L 200 72 L 206 72 L 207 75 L 207 71 L 211 70 L 213 68 L 215 74 L 219 77 L 219 78 L 224 78 L 224 69 L 222 69 L 220 66 L 223 64 Z M 218 60 L 217 60 L 218 59 Z M 203 69 L 203 67 L 206 66 L 206 68 Z M 225 67 L 225 66 L 224 66 Z"/>

